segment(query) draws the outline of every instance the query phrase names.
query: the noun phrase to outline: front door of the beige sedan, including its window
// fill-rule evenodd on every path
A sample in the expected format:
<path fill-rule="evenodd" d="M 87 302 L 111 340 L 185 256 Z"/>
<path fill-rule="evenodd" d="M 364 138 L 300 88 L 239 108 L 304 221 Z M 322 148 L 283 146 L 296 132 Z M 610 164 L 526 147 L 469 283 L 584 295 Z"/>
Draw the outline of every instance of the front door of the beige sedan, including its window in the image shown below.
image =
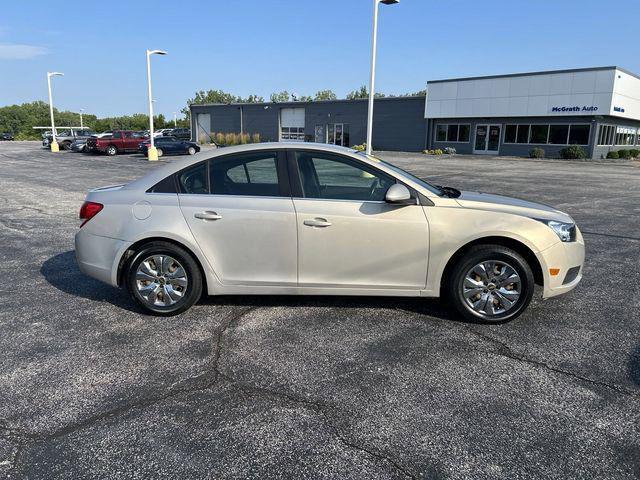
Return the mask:
<path fill-rule="evenodd" d="M 292 153 L 301 287 L 425 288 L 429 225 L 419 205 L 384 201 L 395 178 L 350 157 Z M 294 170 L 297 170 L 294 172 Z"/>

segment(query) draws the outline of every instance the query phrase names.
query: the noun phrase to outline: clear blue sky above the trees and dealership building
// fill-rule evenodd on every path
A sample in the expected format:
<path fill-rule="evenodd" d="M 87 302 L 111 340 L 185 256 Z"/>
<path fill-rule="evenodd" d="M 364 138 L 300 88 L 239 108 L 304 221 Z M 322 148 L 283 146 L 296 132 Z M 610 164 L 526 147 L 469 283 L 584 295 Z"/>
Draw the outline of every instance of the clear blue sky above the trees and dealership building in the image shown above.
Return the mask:
<path fill-rule="evenodd" d="M 372 0 L 21 0 L 0 7 L 0 106 L 171 117 L 197 90 L 338 97 L 368 84 Z M 380 6 L 376 91 L 428 80 L 617 65 L 640 73 L 639 0 L 401 0 Z"/>

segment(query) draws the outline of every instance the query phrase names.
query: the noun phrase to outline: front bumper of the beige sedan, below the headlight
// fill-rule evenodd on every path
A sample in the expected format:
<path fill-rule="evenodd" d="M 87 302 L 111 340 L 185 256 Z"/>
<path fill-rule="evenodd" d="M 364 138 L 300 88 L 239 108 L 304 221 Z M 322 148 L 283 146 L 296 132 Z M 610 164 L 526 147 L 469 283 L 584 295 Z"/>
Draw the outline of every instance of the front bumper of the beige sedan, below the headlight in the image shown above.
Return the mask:
<path fill-rule="evenodd" d="M 551 298 L 570 292 L 582 280 L 585 257 L 582 233 L 578 229 L 575 242 L 558 242 L 541 251 L 539 257 L 544 276 L 542 297 Z M 551 275 L 552 269 L 558 269 L 559 272 Z"/>

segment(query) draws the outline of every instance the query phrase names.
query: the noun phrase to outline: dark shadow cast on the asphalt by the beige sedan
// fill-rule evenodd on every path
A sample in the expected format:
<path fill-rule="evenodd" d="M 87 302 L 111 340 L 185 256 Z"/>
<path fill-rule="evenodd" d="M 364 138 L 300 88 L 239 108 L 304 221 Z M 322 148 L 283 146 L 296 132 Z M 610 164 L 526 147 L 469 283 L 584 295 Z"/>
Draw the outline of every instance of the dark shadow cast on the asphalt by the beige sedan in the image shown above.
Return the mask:
<path fill-rule="evenodd" d="M 80 272 L 75 251 L 59 253 L 46 260 L 40 273 L 58 290 L 98 302 L 108 302 L 136 313 L 144 312 L 123 289 L 99 282 Z M 357 297 L 325 295 L 219 295 L 203 296 L 199 305 L 246 307 L 330 307 L 358 309 L 394 309 L 442 320 L 466 322 L 445 302 L 421 297 Z"/>

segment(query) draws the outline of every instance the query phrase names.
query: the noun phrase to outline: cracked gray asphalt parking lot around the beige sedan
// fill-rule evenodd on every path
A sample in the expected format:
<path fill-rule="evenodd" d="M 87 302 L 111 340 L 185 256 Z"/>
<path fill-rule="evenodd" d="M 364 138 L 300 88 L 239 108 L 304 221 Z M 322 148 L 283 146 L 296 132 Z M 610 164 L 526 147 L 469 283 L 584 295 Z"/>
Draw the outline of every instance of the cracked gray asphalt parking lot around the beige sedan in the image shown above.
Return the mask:
<path fill-rule="evenodd" d="M 147 316 L 73 235 L 87 189 L 156 164 L 0 143 L 0 477 L 638 478 L 640 165 L 382 156 L 568 211 L 582 284 L 497 326 L 393 298 Z"/>

